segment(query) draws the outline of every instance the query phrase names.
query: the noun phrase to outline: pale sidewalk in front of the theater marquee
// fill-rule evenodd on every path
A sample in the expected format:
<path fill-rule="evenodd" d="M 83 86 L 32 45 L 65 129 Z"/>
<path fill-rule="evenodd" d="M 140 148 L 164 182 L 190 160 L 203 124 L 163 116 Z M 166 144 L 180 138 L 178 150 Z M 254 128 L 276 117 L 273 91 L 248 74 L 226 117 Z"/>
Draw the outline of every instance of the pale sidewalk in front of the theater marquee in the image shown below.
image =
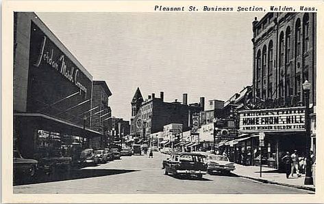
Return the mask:
<path fill-rule="evenodd" d="M 240 164 L 235 164 L 235 167 L 236 169 L 232 173 L 240 177 L 253 179 L 266 184 L 277 184 L 281 186 L 315 191 L 315 187 L 313 185 L 303 184 L 305 180 L 304 174 L 301 175 L 301 177 L 297 177 L 297 175 L 294 174 L 294 177 L 287 179 L 286 173 L 279 173 L 276 169 L 262 166 L 262 177 L 260 177 L 260 166 L 242 166 Z"/>

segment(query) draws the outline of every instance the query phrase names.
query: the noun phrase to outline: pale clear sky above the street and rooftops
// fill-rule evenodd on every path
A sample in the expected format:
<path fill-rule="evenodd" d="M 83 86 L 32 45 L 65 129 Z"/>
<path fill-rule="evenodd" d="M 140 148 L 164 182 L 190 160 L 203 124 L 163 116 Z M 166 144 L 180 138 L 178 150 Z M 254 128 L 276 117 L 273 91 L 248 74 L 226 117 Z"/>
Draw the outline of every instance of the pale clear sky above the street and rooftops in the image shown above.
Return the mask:
<path fill-rule="evenodd" d="M 137 87 L 172 102 L 227 100 L 252 84 L 252 22 L 264 13 L 37 13 L 128 120 Z"/>

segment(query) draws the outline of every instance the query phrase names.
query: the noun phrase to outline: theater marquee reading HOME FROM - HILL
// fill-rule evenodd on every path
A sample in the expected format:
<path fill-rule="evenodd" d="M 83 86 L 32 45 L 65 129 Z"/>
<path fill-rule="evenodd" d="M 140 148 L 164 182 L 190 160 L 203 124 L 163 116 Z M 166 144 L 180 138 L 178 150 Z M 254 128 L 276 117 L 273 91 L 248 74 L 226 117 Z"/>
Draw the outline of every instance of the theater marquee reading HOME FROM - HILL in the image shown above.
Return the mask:
<path fill-rule="evenodd" d="M 240 132 L 305 131 L 305 107 L 240 111 Z"/>

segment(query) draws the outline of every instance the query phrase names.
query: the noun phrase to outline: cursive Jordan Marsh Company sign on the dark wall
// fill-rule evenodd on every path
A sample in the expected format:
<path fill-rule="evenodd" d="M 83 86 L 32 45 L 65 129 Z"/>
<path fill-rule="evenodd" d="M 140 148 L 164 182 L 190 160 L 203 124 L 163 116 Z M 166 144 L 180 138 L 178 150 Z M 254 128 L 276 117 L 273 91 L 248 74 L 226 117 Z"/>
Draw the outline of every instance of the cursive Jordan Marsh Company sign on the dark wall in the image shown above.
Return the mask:
<path fill-rule="evenodd" d="M 38 53 L 38 59 L 34 65 L 40 68 L 42 63 L 49 65 L 51 68 L 62 74 L 68 81 L 75 84 L 81 91 L 86 93 L 86 87 L 79 81 L 80 70 L 75 68 L 71 63 L 67 63 L 68 58 L 62 54 L 55 46 L 50 46 L 47 42 L 47 36 L 43 35 L 42 44 Z"/>

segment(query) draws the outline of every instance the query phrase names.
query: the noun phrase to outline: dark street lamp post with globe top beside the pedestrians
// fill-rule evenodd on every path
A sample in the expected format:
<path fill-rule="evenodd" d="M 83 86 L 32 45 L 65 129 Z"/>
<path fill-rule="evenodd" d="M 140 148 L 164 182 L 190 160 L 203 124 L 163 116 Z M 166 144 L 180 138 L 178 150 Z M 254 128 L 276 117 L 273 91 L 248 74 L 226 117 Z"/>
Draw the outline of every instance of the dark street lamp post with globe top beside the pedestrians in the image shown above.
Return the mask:
<path fill-rule="evenodd" d="M 305 185 L 312 185 L 313 184 L 313 177 L 312 177 L 312 158 L 310 158 L 310 83 L 306 80 L 303 83 L 303 91 L 305 93 L 305 125 L 306 125 L 306 176 L 305 176 Z"/>

